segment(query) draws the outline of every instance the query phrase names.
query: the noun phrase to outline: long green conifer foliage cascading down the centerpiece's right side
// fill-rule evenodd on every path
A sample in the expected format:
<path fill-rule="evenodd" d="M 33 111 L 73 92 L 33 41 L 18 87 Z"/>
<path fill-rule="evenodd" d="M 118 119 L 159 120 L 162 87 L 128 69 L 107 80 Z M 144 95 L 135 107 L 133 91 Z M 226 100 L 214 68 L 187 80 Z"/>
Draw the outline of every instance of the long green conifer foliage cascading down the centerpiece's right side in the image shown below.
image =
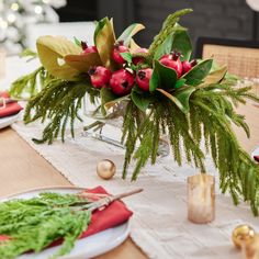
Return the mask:
<path fill-rule="evenodd" d="M 156 162 L 162 132 L 168 132 L 173 159 L 179 166 L 182 165 L 182 157 L 185 157 L 189 164 L 205 172 L 205 154 L 202 151 L 204 140 L 206 153 L 211 154 L 218 169 L 223 193 L 228 191 L 235 204 L 240 200 L 248 202 L 254 214 L 258 215 L 259 168 L 240 147 L 232 128 L 234 123 L 249 135 L 244 116 L 237 114 L 232 104 L 244 103 L 247 98 L 259 101 L 248 91 L 248 88 L 210 85 L 192 94 L 189 114 L 180 112 L 169 99 L 162 99 L 153 105 L 151 116 L 140 123 L 136 121 L 139 110 L 135 110 L 130 102 L 123 124 L 123 140 L 126 145 L 123 177 L 126 178 L 132 158 L 136 160 L 132 180 L 137 179 L 149 158 L 151 164 Z M 140 142 L 138 147 L 137 140 Z"/>

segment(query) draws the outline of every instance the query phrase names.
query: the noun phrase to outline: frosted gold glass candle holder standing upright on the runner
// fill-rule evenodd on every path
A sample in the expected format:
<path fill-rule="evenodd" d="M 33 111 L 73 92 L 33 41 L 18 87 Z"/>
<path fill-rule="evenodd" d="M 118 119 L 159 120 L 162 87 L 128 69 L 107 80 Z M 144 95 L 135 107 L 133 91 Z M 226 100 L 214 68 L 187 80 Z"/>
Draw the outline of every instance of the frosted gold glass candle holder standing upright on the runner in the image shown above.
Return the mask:
<path fill-rule="evenodd" d="M 188 178 L 188 219 L 206 224 L 215 218 L 215 179 L 205 173 Z"/>

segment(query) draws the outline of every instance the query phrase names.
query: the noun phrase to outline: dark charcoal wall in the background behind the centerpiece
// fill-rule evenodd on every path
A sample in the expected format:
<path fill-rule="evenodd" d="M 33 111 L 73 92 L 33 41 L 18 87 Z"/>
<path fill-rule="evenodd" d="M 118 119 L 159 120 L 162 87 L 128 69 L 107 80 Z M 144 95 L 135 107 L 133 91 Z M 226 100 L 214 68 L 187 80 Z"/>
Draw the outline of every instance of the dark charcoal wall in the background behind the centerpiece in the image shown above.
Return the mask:
<path fill-rule="evenodd" d="M 144 23 L 146 30 L 137 40 L 148 46 L 165 18 L 183 8 L 194 10 L 181 20 L 193 43 L 199 36 L 259 41 L 259 14 L 245 0 L 68 0 L 68 5 L 58 13 L 61 21 L 113 16 L 116 33 L 132 22 Z"/>

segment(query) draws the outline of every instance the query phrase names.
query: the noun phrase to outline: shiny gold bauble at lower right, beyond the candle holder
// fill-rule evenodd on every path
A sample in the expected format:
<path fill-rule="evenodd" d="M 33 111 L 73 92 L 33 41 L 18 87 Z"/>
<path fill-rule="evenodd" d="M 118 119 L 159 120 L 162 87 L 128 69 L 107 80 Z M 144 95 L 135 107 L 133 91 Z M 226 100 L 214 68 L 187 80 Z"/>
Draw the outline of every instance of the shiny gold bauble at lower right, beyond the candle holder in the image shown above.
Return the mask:
<path fill-rule="evenodd" d="M 232 240 L 237 248 L 243 245 L 247 246 L 255 238 L 256 232 L 248 225 L 239 225 L 232 233 Z"/>

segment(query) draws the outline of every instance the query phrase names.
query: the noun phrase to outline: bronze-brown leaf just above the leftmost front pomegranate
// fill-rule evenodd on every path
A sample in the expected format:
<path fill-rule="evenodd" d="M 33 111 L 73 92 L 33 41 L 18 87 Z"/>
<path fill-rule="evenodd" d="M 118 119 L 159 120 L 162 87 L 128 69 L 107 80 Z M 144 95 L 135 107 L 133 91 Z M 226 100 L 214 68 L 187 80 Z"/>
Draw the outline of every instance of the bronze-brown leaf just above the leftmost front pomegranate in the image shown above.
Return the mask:
<path fill-rule="evenodd" d="M 102 65 L 98 53 L 88 53 L 85 55 L 67 55 L 64 59 L 66 64 L 80 72 L 88 72 L 90 67 Z"/>

